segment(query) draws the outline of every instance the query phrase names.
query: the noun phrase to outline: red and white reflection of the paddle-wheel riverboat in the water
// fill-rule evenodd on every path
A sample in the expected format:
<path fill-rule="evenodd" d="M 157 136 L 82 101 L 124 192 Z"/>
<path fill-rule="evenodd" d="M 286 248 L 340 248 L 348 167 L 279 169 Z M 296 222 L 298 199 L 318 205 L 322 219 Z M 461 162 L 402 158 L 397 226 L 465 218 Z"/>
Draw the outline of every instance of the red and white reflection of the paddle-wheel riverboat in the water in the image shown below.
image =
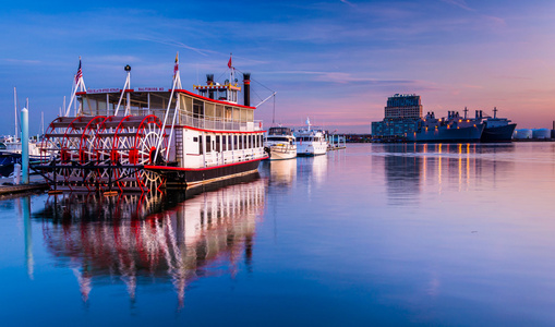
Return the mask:
<path fill-rule="evenodd" d="M 85 302 L 93 281 L 119 277 L 132 300 L 137 286 L 171 282 L 182 307 L 185 288 L 195 279 L 222 274 L 222 266 L 236 274 L 243 253 L 250 268 L 264 210 L 265 181 L 258 173 L 210 189 L 164 198 L 51 197 L 38 215 L 52 220 L 43 225 L 45 243 L 55 256 L 69 259 Z"/>

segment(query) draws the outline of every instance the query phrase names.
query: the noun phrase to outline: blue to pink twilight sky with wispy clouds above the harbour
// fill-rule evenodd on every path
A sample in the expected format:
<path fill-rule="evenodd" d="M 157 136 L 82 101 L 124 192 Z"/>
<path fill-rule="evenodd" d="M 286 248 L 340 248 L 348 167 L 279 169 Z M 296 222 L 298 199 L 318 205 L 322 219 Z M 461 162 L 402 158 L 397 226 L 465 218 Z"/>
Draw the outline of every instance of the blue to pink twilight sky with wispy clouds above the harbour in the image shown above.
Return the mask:
<path fill-rule="evenodd" d="M 252 73 L 265 126 L 313 124 L 370 133 L 387 97 L 418 94 L 445 117 L 484 110 L 520 128 L 555 121 L 555 1 L 10 1 L 0 12 L 0 134 L 14 96 L 31 134 L 69 101 L 82 57 L 88 88 L 183 88 L 233 66 Z"/>

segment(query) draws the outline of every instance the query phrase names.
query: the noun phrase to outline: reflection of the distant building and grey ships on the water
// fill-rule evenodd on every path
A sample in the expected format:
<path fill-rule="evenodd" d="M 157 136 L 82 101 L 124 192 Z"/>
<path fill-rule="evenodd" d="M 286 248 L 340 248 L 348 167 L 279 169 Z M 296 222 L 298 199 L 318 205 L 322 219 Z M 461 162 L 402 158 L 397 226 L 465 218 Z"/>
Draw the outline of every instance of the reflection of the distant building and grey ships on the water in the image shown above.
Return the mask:
<path fill-rule="evenodd" d="M 512 144 L 386 144 L 375 147 L 373 160 L 384 167 L 390 203 L 408 205 L 418 203 L 424 192 L 495 184 L 510 175 L 514 150 Z"/>

